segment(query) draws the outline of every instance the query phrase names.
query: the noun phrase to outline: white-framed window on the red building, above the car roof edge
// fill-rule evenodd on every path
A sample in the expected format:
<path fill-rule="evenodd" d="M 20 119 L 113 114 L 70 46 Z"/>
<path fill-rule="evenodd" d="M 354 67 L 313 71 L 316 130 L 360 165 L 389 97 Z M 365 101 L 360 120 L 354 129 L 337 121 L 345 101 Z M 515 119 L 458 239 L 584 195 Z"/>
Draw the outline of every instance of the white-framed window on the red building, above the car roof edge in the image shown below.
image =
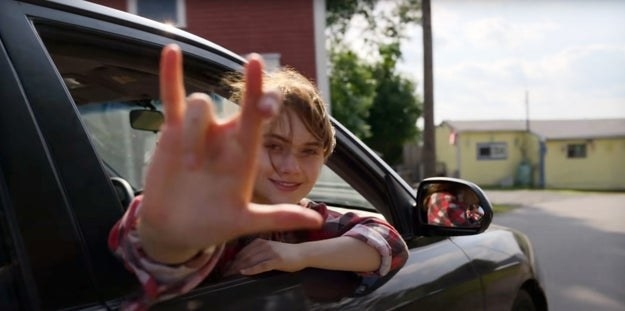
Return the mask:
<path fill-rule="evenodd" d="M 128 12 L 178 28 L 187 26 L 185 0 L 128 0 Z"/>

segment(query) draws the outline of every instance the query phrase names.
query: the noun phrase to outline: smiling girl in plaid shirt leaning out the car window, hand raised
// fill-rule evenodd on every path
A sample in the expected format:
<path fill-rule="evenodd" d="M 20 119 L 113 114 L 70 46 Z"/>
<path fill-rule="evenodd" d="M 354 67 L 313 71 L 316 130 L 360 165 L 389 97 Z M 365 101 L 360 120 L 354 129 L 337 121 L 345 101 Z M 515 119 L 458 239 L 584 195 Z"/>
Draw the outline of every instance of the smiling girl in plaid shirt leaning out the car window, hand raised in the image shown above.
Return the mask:
<path fill-rule="evenodd" d="M 144 288 L 127 307 L 185 293 L 209 275 L 313 267 L 364 280 L 403 266 L 407 247 L 388 223 L 304 198 L 335 144 L 310 81 L 288 69 L 263 76 L 262 60 L 252 55 L 244 81 L 230 82 L 241 114 L 220 121 L 208 96 L 185 100 L 181 63 L 179 48 L 166 46 L 161 138 L 143 196 L 109 236 Z"/>

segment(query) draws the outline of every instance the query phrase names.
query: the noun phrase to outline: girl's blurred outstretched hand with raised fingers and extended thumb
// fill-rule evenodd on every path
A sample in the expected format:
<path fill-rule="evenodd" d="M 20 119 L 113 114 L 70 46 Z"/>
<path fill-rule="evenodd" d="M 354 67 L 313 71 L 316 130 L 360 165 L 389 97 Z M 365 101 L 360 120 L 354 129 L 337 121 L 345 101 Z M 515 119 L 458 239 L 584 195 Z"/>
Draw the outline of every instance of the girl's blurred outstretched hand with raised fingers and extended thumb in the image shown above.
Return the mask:
<path fill-rule="evenodd" d="M 178 46 L 163 49 L 160 66 L 165 123 L 138 228 L 147 254 L 176 263 L 241 235 L 319 227 L 322 219 L 312 210 L 250 202 L 262 125 L 280 105 L 277 93 L 263 91 L 260 56 L 248 58 L 241 113 L 229 120 L 216 119 L 206 94 L 185 98 Z"/>

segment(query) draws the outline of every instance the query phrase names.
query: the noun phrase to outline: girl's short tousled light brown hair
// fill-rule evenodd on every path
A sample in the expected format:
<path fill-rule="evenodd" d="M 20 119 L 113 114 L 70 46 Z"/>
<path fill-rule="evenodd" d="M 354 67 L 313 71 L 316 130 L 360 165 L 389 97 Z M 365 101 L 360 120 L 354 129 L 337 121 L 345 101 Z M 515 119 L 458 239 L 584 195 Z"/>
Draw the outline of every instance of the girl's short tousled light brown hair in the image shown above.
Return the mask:
<path fill-rule="evenodd" d="M 240 102 L 245 92 L 245 81 L 241 74 L 231 75 L 225 79 L 230 88 L 230 100 Z M 315 85 L 296 70 L 281 67 L 277 71 L 263 76 L 265 90 L 275 89 L 282 96 L 280 114 L 294 113 L 304 126 L 323 147 L 323 155 L 327 159 L 336 145 L 334 127 L 330 122 L 327 107 Z M 288 116 L 288 115 L 287 115 Z M 276 117 L 274 120 L 281 118 Z M 287 118 L 291 122 L 290 118 Z M 276 126 L 276 121 L 272 126 Z"/>

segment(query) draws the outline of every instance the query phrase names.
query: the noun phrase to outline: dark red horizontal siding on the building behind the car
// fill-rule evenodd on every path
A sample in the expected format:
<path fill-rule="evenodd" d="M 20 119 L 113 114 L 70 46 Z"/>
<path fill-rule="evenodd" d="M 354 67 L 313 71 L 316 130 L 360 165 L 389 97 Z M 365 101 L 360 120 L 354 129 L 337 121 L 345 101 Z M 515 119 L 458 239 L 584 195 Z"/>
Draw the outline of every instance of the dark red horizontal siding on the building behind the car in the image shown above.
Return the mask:
<path fill-rule="evenodd" d="M 278 53 L 315 81 L 313 1 L 186 0 L 185 30 L 240 55 Z M 127 9 L 126 0 L 93 2 Z"/>

